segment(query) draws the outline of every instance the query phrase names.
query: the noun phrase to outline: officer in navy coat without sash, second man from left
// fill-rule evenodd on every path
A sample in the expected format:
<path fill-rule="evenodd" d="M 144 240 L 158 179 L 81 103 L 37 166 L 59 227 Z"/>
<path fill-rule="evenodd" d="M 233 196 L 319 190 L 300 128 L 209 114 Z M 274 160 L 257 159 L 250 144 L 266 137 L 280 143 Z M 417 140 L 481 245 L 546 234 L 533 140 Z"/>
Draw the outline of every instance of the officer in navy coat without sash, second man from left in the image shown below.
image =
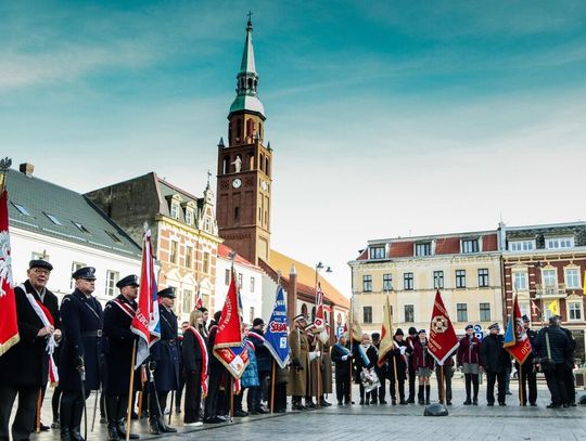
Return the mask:
<path fill-rule="evenodd" d="M 84 441 L 80 434 L 84 398 L 100 389 L 103 312 L 100 302 L 91 296 L 95 289 L 95 269 L 80 268 L 72 277 L 75 278 L 75 290 L 61 303 L 64 332 L 59 365 L 59 382 L 63 390 L 61 439 Z"/>

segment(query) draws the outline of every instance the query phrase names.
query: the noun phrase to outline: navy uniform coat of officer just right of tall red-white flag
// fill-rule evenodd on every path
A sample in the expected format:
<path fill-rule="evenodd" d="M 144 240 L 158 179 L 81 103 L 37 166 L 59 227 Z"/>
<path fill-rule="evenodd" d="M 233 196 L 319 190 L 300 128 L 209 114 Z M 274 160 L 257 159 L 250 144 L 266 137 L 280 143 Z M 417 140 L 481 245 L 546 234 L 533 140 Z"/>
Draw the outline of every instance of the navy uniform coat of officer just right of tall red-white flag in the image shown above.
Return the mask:
<path fill-rule="evenodd" d="M 179 349 L 177 315 L 161 304 L 161 340 L 151 347 L 150 360 L 156 362 L 155 386 L 160 392 L 179 389 Z"/>

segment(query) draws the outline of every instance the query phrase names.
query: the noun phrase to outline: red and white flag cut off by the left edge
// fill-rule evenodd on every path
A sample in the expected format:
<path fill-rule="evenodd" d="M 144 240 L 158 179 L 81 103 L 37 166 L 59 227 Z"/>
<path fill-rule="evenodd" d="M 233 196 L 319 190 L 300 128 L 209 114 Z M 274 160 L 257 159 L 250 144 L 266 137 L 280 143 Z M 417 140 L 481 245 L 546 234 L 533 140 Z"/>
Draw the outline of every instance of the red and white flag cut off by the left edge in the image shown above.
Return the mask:
<path fill-rule="evenodd" d="M 8 220 L 8 192 L 0 196 L 0 356 L 18 342 L 18 323 Z"/>

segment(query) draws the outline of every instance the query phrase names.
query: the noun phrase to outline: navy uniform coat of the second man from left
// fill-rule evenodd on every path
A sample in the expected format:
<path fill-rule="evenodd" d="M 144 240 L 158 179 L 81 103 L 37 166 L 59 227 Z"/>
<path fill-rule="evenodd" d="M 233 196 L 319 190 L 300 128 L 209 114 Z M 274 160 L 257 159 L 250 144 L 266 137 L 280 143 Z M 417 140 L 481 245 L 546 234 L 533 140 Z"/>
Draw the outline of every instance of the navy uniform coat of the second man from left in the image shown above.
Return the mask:
<path fill-rule="evenodd" d="M 63 298 L 61 323 L 64 339 L 59 363 L 59 384 L 63 390 L 81 390 L 76 358 L 84 358 L 86 390 L 100 389 L 102 353 L 102 306 L 92 296 L 75 290 Z"/>

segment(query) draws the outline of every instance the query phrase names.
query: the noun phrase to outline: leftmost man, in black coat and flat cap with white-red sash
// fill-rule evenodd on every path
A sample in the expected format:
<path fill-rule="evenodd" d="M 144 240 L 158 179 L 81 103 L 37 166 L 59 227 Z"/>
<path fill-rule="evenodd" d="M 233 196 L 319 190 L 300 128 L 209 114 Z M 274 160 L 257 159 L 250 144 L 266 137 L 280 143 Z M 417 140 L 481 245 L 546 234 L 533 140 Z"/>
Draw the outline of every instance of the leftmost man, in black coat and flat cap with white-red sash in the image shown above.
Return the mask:
<path fill-rule="evenodd" d="M 53 267 L 31 260 L 28 280 L 14 288 L 21 340 L 0 356 L 0 439 L 9 439 L 12 405 L 18 394 L 18 408 L 12 424 L 14 440 L 28 440 L 35 424 L 36 404 L 49 377 L 47 349 L 61 339 L 59 304 L 47 289 Z"/>

